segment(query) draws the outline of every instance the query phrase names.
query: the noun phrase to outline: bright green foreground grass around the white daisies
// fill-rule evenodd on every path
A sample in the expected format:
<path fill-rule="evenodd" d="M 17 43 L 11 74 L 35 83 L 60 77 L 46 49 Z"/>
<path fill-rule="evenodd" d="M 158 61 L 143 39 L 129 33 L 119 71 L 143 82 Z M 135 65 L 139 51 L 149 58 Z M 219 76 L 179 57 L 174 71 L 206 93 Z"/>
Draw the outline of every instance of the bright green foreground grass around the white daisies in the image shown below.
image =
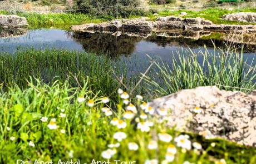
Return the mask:
<path fill-rule="evenodd" d="M 34 81 L 34 82 L 33 82 Z M 101 97 L 90 90 L 87 80 L 81 83 L 81 88 L 72 87 L 67 81 L 61 83 L 55 81 L 51 86 L 42 84 L 37 79 L 29 81 L 29 87 L 9 88 L 8 92 L 0 92 L 0 162 L 16 163 L 23 161 L 50 161 L 57 163 L 62 161 L 80 160 L 80 163 L 107 161 L 102 152 L 108 149 L 110 143 L 117 143 L 114 138 L 116 132 L 124 132 L 127 137 L 120 141 L 120 147 L 111 148 L 116 153 L 110 158 L 114 160 L 136 161 L 144 163 L 146 160 L 165 159 L 169 144 L 173 144 L 177 150 L 173 163 L 182 164 L 184 161 L 193 163 L 214 163 L 221 158 L 227 163 L 255 163 L 255 148 L 238 146 L 224 140 L 204 140 L 199 136 L 190 135 L 191 142 L 199 142 L 202 150 L 187 150 L 185 153 L 176 145 L 174 139 L 170 142 L 161 141 L 159 133 L 168 133 L 173 138 L 181 133 L 166 127 L 166 122 L 159 122 L 157 116 L 148 121 L 153 125 L 149 132 L 142 132 L 132 119 L 124 118 L 126 105 L 119 97 L 119 104 L 110 107 L 111 116 L 106 116 L 101 108 L 109 105 L 101 102 Z M 78 97 L 85 97 L 84 102 L 78 102 Z M 95 105 L 88 107 L 88 100 L 93 99 Z M 141 101 L 135 100 L 137 110 Z M 61 111 L 61 110 L 65 111 Z M 114 112 L 115 111 L 115 112 Z M 65 117 L 60 117 L 63 113 Z M 168 114 L 169 115 L 169 114 Z M 42 122 L 41 118 L 47 117 L 48 121 Z M 126 123 L 126 127 L 117 128 L 110 124 L 113 117 L 118 117 Z M 135 115 L 139 117 L 139 115 Z M 52 124 L 57 129 L 48 128 L 50 120 L 56 118 Z M 139 119 L 142 122 L 141 119 Z M 61 133 L 65 130 L 65 133 Z M 14 138 L 13 138 L 14 137 Z M 14 139 L 14 140 L 11 140 Z M 156 150 L 149 150 L 147 145 L 150 140 L 157 142 Z M 33 147 L 33 143 L 35 146 Z M 139 149 L 129 150 L 129 142 L 135 142 Z M 216 146 L 212 147 L 211 143 Z"/>

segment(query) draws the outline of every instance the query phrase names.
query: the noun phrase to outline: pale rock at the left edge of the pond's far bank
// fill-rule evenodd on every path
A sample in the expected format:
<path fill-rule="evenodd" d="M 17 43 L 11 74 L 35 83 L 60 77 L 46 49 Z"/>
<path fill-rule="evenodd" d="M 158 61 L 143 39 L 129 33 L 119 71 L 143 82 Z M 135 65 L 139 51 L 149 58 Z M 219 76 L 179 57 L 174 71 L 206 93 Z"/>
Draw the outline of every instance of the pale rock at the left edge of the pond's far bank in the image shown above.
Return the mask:
<path fill-rule="evenodd" d="M 0 15 L 0 27 L 28 27 L 28 23 L 24 17 Z"/>

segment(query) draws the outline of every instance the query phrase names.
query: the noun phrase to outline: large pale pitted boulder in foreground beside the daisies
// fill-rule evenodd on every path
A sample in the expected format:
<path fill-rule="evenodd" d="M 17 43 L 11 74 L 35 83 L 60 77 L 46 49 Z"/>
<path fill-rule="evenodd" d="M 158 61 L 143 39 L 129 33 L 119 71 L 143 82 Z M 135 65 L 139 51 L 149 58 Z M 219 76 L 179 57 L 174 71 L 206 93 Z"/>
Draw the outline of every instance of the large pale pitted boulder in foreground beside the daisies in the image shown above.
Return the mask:
<path fill-rule="evenodd" d="M 170 116 L 155 117 L 159 121 L 167 120 L 166 125 L 176 130 L 256 146 L 255 92 L 245 94 L 219 90 L 215 86 L 198 87 L 157 98 L 149 104 L 156 111 L 169 110 Z"/>

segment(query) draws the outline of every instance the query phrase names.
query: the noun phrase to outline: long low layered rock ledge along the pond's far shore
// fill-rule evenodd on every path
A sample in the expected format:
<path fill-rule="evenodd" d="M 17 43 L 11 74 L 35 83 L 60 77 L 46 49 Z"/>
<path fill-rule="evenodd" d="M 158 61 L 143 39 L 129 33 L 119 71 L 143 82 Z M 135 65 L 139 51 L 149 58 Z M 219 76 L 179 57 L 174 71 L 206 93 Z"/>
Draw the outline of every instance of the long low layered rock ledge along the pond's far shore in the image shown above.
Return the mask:
<path fill-rule="evenodd" d="M 156 21 L 150 21 L 148 17 L 141 17 L 135 19 L 116 19 L 114 21 L 105 23 L 87 23 L 80 26 L 72 26 L 71 29 L 75 31 L 88 32 L 111 32 L 116 33 L 136 33 L 135 36 L 144 33 L 160 32 L 167 30 L 183 30 L 183 31 L 241 31 L 241 32 L 256 32 L 256 25 L 229 25 L 229 24 L 213 24 L 204 18 L 181 18 L 181 17 L 157 17 Z M 142 36 L 144 36 L 142 34 Z"/>

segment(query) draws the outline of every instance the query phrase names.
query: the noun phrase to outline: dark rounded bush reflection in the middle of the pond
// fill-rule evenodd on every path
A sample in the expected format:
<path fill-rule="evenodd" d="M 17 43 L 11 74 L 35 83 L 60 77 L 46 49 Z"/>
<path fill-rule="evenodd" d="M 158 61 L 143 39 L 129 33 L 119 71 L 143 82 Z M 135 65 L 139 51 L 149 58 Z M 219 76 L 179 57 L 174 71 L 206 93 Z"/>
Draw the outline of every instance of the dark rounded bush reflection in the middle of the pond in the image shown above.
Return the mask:
<path fill-rule="evenodd" d="M 113 58 L 119 54 L 132 54 L 135 50 L 135 44 L 143 39 L 126 36 L 125 34 L 113 36 L 109 33 L 88 32 L 73 32 L 71 37 L 77 43 L 80 43 L 85 51 L 96 54 L 109 54 Z"/>

